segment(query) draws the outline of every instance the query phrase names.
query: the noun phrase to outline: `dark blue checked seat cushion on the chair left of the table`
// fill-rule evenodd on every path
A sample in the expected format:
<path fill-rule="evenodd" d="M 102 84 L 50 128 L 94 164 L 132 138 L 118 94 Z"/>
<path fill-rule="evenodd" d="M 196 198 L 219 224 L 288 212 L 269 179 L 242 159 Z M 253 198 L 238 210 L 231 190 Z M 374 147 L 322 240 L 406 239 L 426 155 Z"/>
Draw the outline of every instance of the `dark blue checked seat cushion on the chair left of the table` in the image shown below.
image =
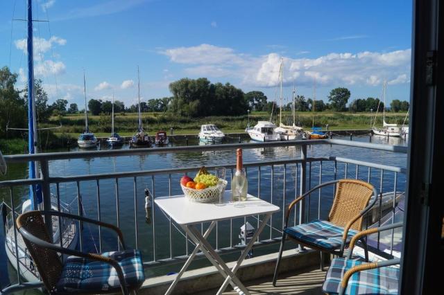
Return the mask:
<path fill-rule="evenodd" d="M 105 252 L 116 260 L 123 270 L 126 285 L 136 287 L 145 280 L 142 255 L 139 250 Z M 58 292 L 99 292 L 120 289 L 117 271 L 108 263 L 69 256 L 63 266 L 62 275 L 56 284 Z"/>

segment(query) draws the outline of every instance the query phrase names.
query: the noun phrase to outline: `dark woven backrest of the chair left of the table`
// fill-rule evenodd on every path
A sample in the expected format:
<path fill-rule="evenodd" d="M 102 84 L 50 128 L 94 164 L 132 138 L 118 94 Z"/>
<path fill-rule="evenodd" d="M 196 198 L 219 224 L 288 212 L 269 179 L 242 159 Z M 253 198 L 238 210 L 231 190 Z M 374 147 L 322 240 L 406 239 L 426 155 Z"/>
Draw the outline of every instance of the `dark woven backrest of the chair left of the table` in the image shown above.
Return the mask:
<path fill-rule="evenodd" d="M 17 229 L 23 228 L 31 235 L 34 235 L 40 240 L 45 242 L 51 242 L 50 235 L 46 230 L 42 213 L 40 211 L 28 211 L 17 217 Z M 23 240 L 28 248 L 34 264 L 39 271 L 40 278 L 46 287 L 51 292 L 56 283 L 58 282 L 60 275 L 62 274 L 62 262 L 58 256 L 58 253 L 54 250 L 40 247 L 37 244 L 26 239 L 22 235 Z"/>

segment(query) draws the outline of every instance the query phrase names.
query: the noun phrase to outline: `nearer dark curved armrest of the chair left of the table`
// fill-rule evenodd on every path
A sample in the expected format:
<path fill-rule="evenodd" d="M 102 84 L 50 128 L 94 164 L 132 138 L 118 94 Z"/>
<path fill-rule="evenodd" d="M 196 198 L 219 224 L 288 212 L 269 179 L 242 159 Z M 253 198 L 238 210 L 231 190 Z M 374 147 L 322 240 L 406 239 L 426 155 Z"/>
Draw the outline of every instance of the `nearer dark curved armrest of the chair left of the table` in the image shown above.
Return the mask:
<path fill-rule="evenodd" d="M 46 249 L 51 249 L 51 250 L 57 251 L 59 253 L 68 254 L 68 255 L 71 255 L 71 256 L 87 258 L 87 259 L 90 259 L 90 260 L 95 260 L 95 261 L 101 261 L 101 262 L 108 263 L 109 265 L 114 267 L 114 269 L 116 269 L 116 271 L 117 271 L 117 276 L 119 278 L 119 283 L 121 285 L 123 294 L 125 294 L 125 295 L 128 294 L 128 288 L 126 287 L 125 276 L 123 276 L 123 270 L 122 270 L 121 266 L 119 265 L 119 263 L 116 260 L 114 260 L 114 259 L 112 259 L 110 257 L 107 257 L 107 256 L 103 256 L 101 254 L 84 253 L 84 252 L 72 250 L 72 249 L 69 249 L 69 248 L 60 247 L 60 246 L 58 246 L 56 244 L 51 244 L 50 242 L 46 242 L 44 240 L 41 240 L 41 239 L 35 237 L 34 235 L 32 235 L 31 233 L 26 231 L 26 229 L 24 229 L 23 227 L 19 228 L 19 232 L 20 232 L 20 234 L 22 234 L 23 238 L 33 242 L 33 244 L 37 244 L 39 247 L 46 248 Z"/>

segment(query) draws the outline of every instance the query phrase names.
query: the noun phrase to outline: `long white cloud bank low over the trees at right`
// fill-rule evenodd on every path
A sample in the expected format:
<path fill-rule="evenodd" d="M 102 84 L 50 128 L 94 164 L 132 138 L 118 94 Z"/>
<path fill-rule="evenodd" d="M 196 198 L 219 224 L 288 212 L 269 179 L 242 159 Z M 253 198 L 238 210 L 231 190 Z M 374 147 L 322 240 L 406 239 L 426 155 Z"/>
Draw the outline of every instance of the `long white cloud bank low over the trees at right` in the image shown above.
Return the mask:
<path fill-rule="evenodd" d="M 357 37 L 357 36 L 354 36 Z M 160 52 L 171 62 L 185 64 L 189 75 L 238 78 L 248 87 L 275 87 L 279 83 L 282 55 L 270 53 L 251 56 L 237 53 L 233 48 L 210 44 L 169 48 Z M 409 82 L 411 50 L 388 53 L 329 53 L 317 58 L 284 57 L 285 85 L 311 87 L 314 78 L 323 86 L 390 84 Z"/>

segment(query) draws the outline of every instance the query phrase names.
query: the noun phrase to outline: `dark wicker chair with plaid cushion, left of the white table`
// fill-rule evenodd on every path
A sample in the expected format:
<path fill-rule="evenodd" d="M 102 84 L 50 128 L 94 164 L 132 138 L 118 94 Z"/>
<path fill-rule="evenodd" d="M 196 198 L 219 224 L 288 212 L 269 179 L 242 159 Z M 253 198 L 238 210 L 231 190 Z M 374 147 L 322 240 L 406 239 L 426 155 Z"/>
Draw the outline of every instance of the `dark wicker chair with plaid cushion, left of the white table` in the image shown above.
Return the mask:
<path fill-rule="evenodd" d="M 52 244 L 43 216 L 65 217 L 115 231 L 123 251 L 83 253 Z M 17 229 L 22 235 L 40 278 L 50 294 L 99 294 L 135 292 L 145 280 L 138 250 L 125 250 L 123 234 L 117 226 L 58 211 L 29 211 L 19 215 Z M 70 255 L 65 263 L 58 253 Z"/>

